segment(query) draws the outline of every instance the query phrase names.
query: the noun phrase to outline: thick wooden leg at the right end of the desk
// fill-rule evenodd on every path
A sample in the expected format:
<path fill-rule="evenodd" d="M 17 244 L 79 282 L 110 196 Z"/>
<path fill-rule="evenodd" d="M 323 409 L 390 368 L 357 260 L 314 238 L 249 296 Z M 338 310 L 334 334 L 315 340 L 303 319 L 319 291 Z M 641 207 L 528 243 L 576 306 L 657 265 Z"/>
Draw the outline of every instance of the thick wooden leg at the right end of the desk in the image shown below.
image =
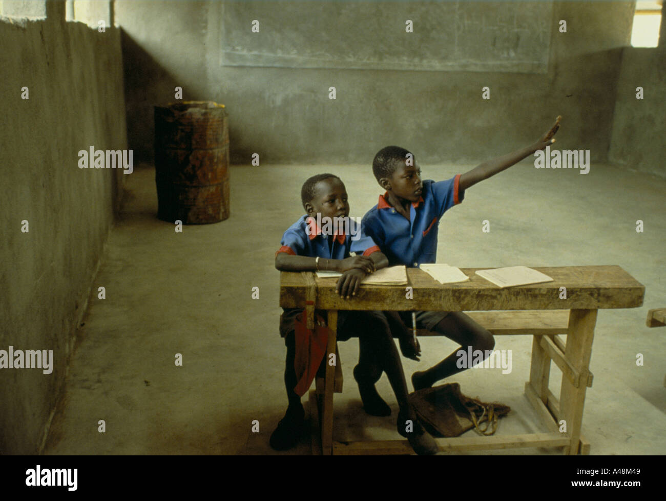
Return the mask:
<path fill-rule="evenodd" d="M 585 405 L 585 390 L 587 390 L 587 374 L 589 374 L 589 359 L 592 354 L 592 340 L 594 326 L 597 322 L 597 310 L 571 310 L 569 313 L 569 332 L 565 356 L 579 371 L 579 387 L 576 388 L 567 378 L 562 376 L 562 388 L 559 398 L 560 419 L 567 422 L 567 433 L 571 436 L 569 446 L 564 448 L 564 454 L 574 456 L 578 454 L 581 424 L 583 423 L 583 406 Z M 559 424 L 559 423 L 558 423 Z"/>

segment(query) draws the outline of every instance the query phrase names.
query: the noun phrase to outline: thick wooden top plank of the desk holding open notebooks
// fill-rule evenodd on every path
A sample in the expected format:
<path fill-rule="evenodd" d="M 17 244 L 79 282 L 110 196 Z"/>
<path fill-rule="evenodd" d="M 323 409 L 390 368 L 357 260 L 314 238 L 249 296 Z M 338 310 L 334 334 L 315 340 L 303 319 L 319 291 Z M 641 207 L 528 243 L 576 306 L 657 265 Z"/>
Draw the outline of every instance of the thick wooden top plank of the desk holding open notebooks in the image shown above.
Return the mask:
<path fill-rule="evenodd" d="M 336 278 L 316 278 L 316 308 L 322 310 L 569 310 L 637 308 L 645 286 L 620 266 L 533 268 L 553 282 L 500 288 L 475 273 L 488 268 L 461 268 L 470 280 L 440 284 L 418 268 L 407 268 L 408 285 L 362 285 L 351 299 L 335 293 Z M 406 287 L 413 288 L 407 299 Z M 560 299 L 560 287 L 567 298 Z M 303 308 L 306 284 L 301 272 L 281 272 L 280 306 Z"/>

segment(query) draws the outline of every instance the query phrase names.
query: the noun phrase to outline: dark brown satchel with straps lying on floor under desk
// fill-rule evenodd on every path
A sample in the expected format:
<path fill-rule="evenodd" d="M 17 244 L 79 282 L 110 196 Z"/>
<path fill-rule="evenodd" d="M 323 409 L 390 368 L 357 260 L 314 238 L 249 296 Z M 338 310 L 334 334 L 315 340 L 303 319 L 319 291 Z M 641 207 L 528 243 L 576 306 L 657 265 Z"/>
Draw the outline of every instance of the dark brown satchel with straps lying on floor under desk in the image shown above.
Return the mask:
<path fill-rule="evenodd" d="M 498 402 L 488 404 L 465 396 L 457 382 L 418 390 L 410 394 L 409 400 L 424 428 L 440 438 L 460 436 L 472 428 L 482 435 L 492 435 L 498 428 L 498 418 L 511 410 Z"/>

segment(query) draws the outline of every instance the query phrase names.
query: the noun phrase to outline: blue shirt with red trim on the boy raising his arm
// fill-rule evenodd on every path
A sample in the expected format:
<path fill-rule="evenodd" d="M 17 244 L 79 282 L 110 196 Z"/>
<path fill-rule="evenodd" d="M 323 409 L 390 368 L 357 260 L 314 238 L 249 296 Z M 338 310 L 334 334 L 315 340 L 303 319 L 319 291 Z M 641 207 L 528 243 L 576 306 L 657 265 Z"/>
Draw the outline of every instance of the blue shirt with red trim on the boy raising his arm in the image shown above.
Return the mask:
<path fill-rule="evenodd" d="M 361 221 L 363 231 L 386 254 L 390 266 L 416 268 L 437 259 L 437 232 L 442 215 L 461 203 L 460 174 L 446 181 L 423 182 L 423 193 L 410 207 L 410 221 L 386 202 L 386 193 Z"/>

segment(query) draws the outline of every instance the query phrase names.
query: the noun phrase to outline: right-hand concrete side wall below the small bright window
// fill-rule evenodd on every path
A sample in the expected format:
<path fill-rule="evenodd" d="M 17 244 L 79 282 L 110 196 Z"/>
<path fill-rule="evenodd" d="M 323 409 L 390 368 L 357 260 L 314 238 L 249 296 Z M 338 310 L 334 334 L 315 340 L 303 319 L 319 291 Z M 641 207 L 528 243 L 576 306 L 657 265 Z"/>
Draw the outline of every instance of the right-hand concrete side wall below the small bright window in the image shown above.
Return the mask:
<path fill-rule="evenodd" d="M 636 99 L 637 87 L 643 99 Z M 623 49 L 609 161 L 666 177 L 665 91 L 666 46 Z"/>

